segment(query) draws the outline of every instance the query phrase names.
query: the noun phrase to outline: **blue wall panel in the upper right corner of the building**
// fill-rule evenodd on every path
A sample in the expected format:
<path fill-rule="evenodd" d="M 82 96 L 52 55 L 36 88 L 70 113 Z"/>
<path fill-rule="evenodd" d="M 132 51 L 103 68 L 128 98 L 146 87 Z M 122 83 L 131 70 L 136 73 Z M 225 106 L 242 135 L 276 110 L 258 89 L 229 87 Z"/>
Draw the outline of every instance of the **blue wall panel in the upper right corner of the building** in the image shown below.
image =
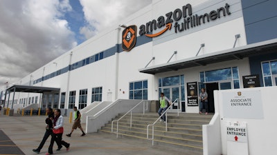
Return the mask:
<path fill-rule="evenodd" d="M 277 38 L 276 6 L 276 0 L 242 0 L 248 44 Z"/>

